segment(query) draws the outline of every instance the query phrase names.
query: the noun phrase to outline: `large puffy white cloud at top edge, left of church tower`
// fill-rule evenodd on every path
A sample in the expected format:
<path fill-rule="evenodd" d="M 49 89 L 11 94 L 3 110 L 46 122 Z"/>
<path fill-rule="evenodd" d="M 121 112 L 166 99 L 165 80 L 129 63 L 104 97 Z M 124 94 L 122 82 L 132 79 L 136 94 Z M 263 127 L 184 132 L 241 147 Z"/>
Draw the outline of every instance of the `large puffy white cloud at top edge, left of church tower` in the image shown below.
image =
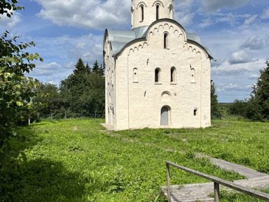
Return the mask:
<path fill-rule="evenodd" d="M 60 26 L 104 29 L 130 22 L 130 3 L 122 0 L 35 0 L 43 6 L 38 14 Z"/>

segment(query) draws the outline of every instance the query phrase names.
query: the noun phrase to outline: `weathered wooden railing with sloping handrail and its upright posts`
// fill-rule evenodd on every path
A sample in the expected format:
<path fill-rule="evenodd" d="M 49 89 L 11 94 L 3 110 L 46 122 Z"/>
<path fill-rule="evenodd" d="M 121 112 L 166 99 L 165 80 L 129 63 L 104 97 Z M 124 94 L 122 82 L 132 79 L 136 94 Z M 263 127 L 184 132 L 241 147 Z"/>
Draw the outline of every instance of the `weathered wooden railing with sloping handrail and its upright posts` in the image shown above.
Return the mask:
<path fill-rule="evenodd" d="M 242 192 L 244 194 L 247 194 L 249 196 L 254 196 L 258 199 L 262 199 L 264 201 L 269 201 L 269 194 L 265 194 L 263 192 L 256 191 L 254 189 L 244 187 L 242 185 L 237 185 L 234 182 L 229 182 L 227 180 L 223 180 L 221 178 L 216 178 L 212 175 L 207 175 L 205 173 L 200 173 L 198 171 L 192 170 L 190 168 L 186 168 L 184 166 L 180 166 L 178 164 L 174 164 L 170 161 L 165 161 L 166 166 L 167 166 L 167 197 L 168 197 L 168 202 L 171 202 L 171 188 L 170 188 L 170 166 L 174 166 L 176 168 L 179 168 L 183 171 L 186 171 L 188 173 L 192 173 L 193 175 L 198 175 L 201 178 L 205 178 L 207 180 L 211 180 L 214 182 L 214 201 L 215 202 L 220 202 L 220 197 L 219 197 L 219 185 L 223 185 L 226 187 L 229 187 L 230 189 L 235 189 L 238 192 Z"/>

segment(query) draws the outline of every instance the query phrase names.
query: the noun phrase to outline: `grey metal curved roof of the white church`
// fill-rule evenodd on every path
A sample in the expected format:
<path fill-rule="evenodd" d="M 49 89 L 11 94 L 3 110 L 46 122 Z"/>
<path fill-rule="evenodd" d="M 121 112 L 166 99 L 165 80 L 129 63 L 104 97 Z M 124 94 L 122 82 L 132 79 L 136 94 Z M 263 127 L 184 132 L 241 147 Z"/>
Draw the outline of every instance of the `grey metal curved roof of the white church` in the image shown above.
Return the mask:
<path fill-rule="evenodd" d="M 111 42 L 113 54 L 117 55 L 120 50 L 124 48 L 124 46 L 137 38 L 146 38 L 147 31 L 149 26 L 137 27 L 135 29 L 126 31 L 126 30 L 116 30 L 116 29 L 107 29 L 109 34 L 109 41 Z M 200 37 L 195 33 L 187 33 L 187 39 L 191 41 L 195 41 L 196 43 L 201 44 Z M 212 53 L 208 48 L 205 48 L 210 57 L 212 57 Z M 212 57 L 213 58 L 213 57 Z"/>

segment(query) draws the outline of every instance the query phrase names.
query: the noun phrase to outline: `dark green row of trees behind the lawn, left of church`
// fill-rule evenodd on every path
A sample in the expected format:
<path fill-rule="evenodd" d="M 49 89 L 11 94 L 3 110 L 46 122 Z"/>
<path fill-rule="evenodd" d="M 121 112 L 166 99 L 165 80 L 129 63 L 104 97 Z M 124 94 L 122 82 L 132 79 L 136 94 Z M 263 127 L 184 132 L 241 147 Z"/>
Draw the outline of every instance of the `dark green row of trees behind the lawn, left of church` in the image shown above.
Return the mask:
<path fill-rule="evenodd" d="M 32 119 L 43 115 L 53 117 L 104 116 L 104 68 L 96 61 L 92 68 L 80 58 L 73 73 L 60 86 L 39 82 L 32 99 L 35 110 Z"/>

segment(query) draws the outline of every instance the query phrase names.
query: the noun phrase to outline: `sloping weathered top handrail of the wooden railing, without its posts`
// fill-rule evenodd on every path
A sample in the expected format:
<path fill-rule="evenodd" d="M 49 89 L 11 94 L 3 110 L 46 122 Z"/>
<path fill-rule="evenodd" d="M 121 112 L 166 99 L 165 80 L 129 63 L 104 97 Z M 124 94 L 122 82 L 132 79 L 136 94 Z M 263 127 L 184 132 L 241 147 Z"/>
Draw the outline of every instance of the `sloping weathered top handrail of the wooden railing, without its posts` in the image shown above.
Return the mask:
<path fill-rule="evenodd" d="M 264 201 L 269 201 L 269 194 L 265 194 L 263 192 L 258 192 L 254 189 L 251 189 L 251 188 L 248 188 L 248 187 L 243 187 L 242 185 L 237 185 L 235 184 L 234 182 L 228 182 L 227 180 L 223 180 L 221 178 L 216 178 L 212 175 L 207 175 L 205 173 L 201 173 L 199 171 L 195 171 L 191 168 L 186 168 L 184 166 L 180 166 L 178 164 L 174 164 L 170 161 L 165 161 L 166 164 L 169 164 L 171 166 L 174 166 L 176 168 L 179 168 L 183 171 L 186 171 L 188 173 L 192 173 L 193 175 L 198 175 L 200 176 L 201 178 L 205 178 L 207 180 L 211 180 L 212 182 L 216 182 L 220 185 L 223 185 L 223 186 L 226 186 L 226 187 L 229 187 L 230 189 L 235 189 L 236 191 L 238 192 L 242 192 L 244 194 L 247 194 L 249 196 L 254 196 L 256 197 L 257 199 L 262 199 Z"/>

